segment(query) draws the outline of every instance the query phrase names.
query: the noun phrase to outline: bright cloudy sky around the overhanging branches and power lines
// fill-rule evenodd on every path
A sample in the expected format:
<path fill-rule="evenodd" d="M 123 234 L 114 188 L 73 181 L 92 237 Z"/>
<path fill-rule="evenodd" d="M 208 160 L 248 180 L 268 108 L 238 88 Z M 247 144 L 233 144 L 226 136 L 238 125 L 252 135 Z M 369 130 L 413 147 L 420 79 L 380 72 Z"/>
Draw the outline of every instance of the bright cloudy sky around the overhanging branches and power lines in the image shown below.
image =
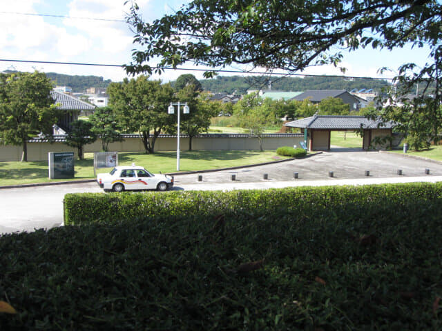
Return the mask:
<path fill-rule="evenodd" d="M 129 10 L 129 5 L 125 6 L 125 2 L 126 0 L 0 0 L 0 59 L 128 64 L 131 62 L 134 34 L 125 22 Z M 185 2 L 186 0 L 137 0 L 146 21 L 172 14 L 173 10 L 178 10 Z M 427 51 L 422 49 L 404 48 L 394 52 L 366 49 L 345 54 L 342 66 L 347 69 L 347 76 L 391 78 L 401 63 L 415 62 L 423 65 L 425 61 Z M 191 64 L 185 67 L 193 68 Z M 393 71 L 378 73 L 378 69 L 383 67 Z M 0 61 L 0 71 L 7 69 L 91 74 L 112 81 L 122 81 L 127 77 L 122 68 Z M 184 73 L 192 73 L 202 79 L 202 72 L 182 70 L 166 70 L 161 76 L 154 75 L 153 78 L 171 81 Z M 298 73 L 342 74 L 333 66 L 307 68 Z"/>

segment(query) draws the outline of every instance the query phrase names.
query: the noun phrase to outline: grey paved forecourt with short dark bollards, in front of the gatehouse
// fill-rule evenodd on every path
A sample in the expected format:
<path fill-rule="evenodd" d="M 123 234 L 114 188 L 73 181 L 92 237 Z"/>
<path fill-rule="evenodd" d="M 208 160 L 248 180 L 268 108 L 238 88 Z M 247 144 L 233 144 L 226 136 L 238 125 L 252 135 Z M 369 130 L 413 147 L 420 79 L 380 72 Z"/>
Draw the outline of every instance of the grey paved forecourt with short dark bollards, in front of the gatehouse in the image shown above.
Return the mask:
<path fill-rule="evenodd" d="M 177 175 L 175 185 L 229 183 L 232 174 L 235 174 L 237 183 L 293 181 L 294 172 L 298 172 L 297 181 L 398 177 L 397 170 L 402 170 L 403 175 L 400 177 L 406 178 L 425 176 L 425 169 L 430 169 L 430 176 L 442 176 L 442 163 L 436 161 L 388 152 L 343 149 L 252 168 Z M 369 171 L 369 177 L 365 177 L 366 170 Z M 329 172 L 334 172 L 334 177 L 329 177 Z M 269 179 L 265 180 L 264 174 L 268 174 Z M 202 176 L 202 182 L 198 182 L 199 175 Z"/>

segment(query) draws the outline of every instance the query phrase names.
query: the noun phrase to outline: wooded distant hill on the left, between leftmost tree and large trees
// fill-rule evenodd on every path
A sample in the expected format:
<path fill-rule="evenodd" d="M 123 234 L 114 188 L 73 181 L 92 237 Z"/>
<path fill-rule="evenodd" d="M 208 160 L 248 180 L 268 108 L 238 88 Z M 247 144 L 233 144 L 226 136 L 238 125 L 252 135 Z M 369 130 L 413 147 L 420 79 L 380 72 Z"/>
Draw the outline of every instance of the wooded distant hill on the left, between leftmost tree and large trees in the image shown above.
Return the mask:
<path fill-rule="evenodd" d="M 86 92 L 86 88 L 107 88 L 111 79 L 104 80 L 98 76 L 70 76 L 69 74 L 57 74 L 46 72 L 46 76 L 55 82 L 57 86 L 69 86 L 73 92 Z"/>

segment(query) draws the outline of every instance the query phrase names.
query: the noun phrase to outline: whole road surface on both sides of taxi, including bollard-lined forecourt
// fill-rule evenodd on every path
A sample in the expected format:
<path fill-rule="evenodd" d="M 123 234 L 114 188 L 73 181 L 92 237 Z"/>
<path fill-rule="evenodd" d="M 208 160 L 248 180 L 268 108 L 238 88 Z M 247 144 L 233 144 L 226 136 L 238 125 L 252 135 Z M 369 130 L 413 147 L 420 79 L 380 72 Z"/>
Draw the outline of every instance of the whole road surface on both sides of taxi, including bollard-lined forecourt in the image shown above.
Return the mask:
<path fill-rule="evenodd" d="M 425 174 L 430 169 L 430 174 Z M 369 177 L 365 171 L 369 171 Z M 402 175 L 397 174 L 402 170 Z M 298 172 L 298 179 L 294 179 Z M 329 177 L 334 172 L 334 177 Z M 232 175 L 236 180 L 232 181 Z M 267 174 L 268 179 L 264 179 Z M 202 176 L 202 181 L 198 177 Z M 242 190 L 300 185 L 365 185 L 442 181 L 442 163 L 401 154 L 335 150 L 305 159 L 251 168 L 175 175 L 173 190 Z M 103 192 L 96 183 L 0 189 L 0 233 L 32 231 L 63 224 L 66 193 Z"/>

